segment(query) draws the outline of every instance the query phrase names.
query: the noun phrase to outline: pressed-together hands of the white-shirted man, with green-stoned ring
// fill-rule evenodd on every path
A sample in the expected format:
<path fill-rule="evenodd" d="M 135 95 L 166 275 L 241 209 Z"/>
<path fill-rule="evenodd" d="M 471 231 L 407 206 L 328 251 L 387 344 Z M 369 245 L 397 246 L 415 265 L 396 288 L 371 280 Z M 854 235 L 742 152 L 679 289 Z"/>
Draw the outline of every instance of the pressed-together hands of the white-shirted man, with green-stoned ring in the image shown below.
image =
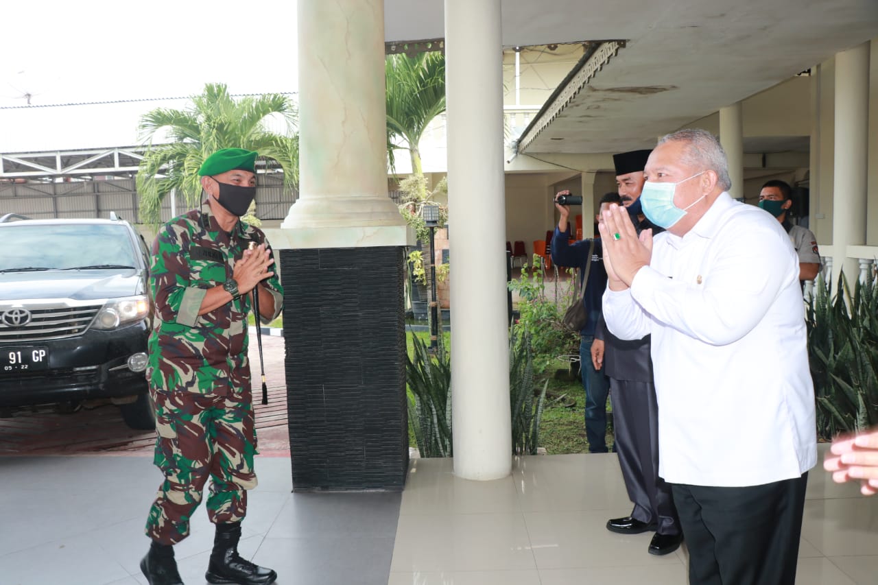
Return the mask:
<path fill-rule="evenodd" d="M 637 235 L 628 211 L 615 204 L 601 214 L 598 222 L 603 242 L 603 264 L 607 269 L 611 291 L 623 291 L 631 285 L 634 275 L 650 264 L 652 230 Z"/>

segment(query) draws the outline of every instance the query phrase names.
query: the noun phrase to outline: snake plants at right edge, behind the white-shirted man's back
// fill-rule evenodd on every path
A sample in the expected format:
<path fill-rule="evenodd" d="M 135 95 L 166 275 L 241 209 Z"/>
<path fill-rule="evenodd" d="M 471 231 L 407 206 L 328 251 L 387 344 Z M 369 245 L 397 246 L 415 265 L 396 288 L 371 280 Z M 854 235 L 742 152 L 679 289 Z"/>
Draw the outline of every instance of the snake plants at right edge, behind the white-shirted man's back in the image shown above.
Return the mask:
<path fill-rule="evenodd" d="M 808 350 L 817 398 L 817 435 L 878 423 L 878 291 L 857 281 L 853 293 L 844 273 L 837 290 L 822 277 L 807 307 Z"/>

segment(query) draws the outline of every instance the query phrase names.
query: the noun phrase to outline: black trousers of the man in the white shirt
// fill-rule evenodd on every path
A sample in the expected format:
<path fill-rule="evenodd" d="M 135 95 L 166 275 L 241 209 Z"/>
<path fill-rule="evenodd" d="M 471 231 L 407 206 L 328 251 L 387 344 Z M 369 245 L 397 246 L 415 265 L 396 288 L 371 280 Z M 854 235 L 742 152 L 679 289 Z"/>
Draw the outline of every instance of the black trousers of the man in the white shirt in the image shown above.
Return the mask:
<path fill-rule="evenodd" d="M 747 488 L 673 484 L 690 585 L 794 585 L 808 473 Z"/>

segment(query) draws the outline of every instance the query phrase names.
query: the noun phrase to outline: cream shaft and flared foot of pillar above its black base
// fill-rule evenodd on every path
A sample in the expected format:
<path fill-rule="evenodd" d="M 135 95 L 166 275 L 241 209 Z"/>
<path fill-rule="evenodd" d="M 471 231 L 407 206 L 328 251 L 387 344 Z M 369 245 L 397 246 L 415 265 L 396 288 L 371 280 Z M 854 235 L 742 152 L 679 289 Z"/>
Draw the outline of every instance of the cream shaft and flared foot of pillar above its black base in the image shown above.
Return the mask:
<path fill-rule="evenodd" d="M 383 0 L 299 0 L 299 200 L 276 248 L 408 243 L 387 196 L 384 42 Z"/>

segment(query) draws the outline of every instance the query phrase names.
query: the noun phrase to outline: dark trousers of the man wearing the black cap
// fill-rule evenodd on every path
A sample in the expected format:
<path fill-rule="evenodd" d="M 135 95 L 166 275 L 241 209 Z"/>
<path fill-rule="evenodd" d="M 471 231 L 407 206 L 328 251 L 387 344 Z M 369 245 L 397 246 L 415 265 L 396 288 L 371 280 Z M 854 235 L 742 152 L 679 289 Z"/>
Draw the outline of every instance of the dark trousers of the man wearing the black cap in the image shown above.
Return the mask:
<path fill-rule="evenodd" d="M 657 524 L 659 534 L 679 534 L 680 522 L 671 486 L 659 477 L 659 406 L 649 382 L 610 379 L 615 450 L 628 497 L 631 516 Z"/>

